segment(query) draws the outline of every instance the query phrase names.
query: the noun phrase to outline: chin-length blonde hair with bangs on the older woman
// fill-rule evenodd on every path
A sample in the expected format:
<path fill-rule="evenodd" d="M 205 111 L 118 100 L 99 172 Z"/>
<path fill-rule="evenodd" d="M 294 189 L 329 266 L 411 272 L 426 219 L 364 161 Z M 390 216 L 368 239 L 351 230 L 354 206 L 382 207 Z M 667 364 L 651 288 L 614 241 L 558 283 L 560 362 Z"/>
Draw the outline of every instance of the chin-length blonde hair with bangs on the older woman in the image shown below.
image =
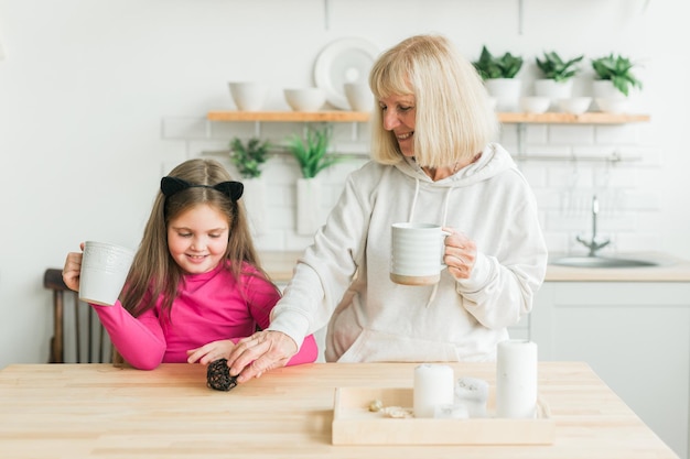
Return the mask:
<path fill-rule="evenodd" d="M 443 36 L 411 36 L 381 54 L 369 86 L 377 100 L 414 96 L 414 157 L 422 167 L 471 161 L 498 133 L 482 78 Z M 393 133 L 384 129 L 381 110 L 371 118 L 374 161 L 398 163 L 402 154 Z"/>

